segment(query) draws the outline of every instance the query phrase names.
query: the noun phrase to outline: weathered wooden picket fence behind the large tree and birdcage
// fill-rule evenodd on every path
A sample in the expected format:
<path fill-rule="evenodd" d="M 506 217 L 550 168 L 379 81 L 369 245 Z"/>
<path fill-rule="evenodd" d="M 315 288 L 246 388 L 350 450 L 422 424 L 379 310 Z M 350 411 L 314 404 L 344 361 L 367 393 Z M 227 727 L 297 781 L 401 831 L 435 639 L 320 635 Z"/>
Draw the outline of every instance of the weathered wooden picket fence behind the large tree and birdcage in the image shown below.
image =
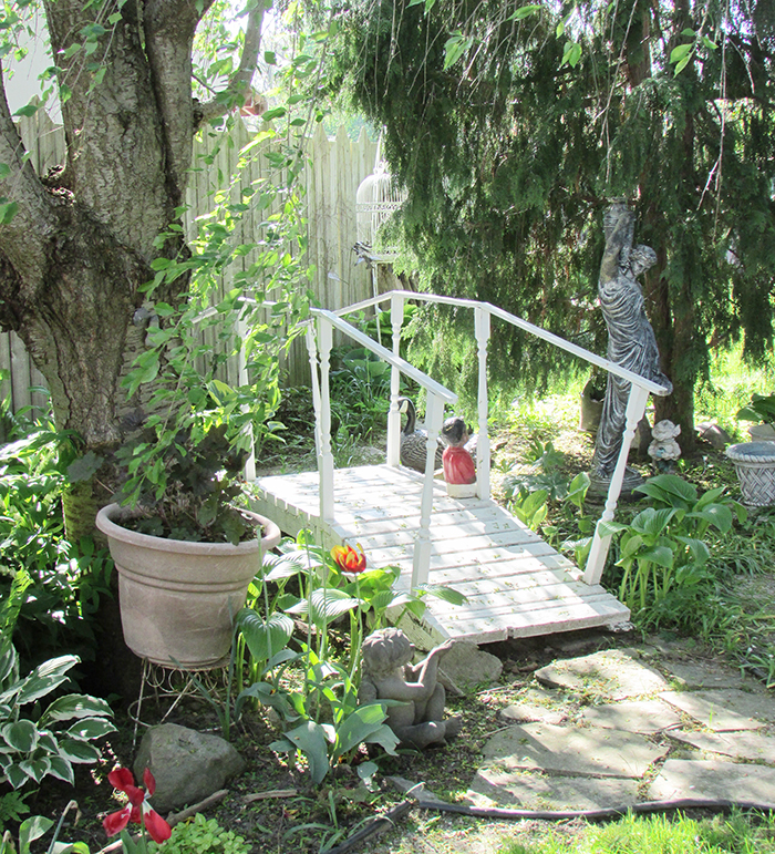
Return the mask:
<path fill-rule="evenodd" d="M 197 233 L 197 217 L 215 207 L 216 193 L 231 183 L 232 200 L 240 202 L 240 187 L 268 174 L 264 157 L 255 157 L 242 169 L 238 168 L 240 150 L 257 130 L 266 126 L 260 120 L 247 121 L 254 122 L 254 125 L 236 122 L 228 142 L 219 138 L 219 132 L 209 130 L 203 131 L 195 142 L 194 171 L 186 197 L 189 238 Z M 39 175 L 64 163 L 63 128 L 54 125 L 43 110 L 32 117 L 22 119 L 20 131 Z M 373 296 L 371 272 L 363 264 L 355 266 L 352 247 L 356 240 L 355 193 L 361 181 L 374 168 L 376 143 L 368 138 L 364 130 L 353 142 L 343 127 L 329 138 L 322 124 L 318 124 L 314 135 L 307 141 L 306 154 L 307 263 L 314 268 L 312 288 L 319 303 L 334 310 Z M 265 169 L 264 174 L 261 169 Z M 255 239 L 260 222 L 256 217 L 251 212 L 244 216 L 234 235 L 237 244 Z M 261 214 L 261 219 L 264 217 L 265 214 Z M 239 259 L 238 264 L 247 269 L 250 256 Z M 229 286 L 238 270 L 239 267 L 235 266 L 227 274 L 224 287 Z M 309 361 L 301 340 L 294 342 L 285 368 L 289 384 L 309 382 Z M 0 333 L 0 369 L 10 374 L 0 383 L 0 400 L 8 399 L 11 411 L 44 405 L 44 398 L 32 389 L 45 387 L 45 381 L 13 332 Z"/>

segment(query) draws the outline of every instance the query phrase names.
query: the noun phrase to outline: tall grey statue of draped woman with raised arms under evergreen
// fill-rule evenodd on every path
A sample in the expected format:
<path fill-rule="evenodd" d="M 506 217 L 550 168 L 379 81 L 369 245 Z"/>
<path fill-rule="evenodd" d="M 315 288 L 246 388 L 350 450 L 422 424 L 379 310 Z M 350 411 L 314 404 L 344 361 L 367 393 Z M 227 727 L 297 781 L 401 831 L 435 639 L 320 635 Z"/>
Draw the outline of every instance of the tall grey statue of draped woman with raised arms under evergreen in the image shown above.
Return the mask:
<path fill-rule="evenodd" d="M 632 246 L 634 223 L 634 212 L 621 202 L 614 202 L 606 210 L 606 250 L 600 264 L 598 297 L 608 328 L 608 359 L 659 383 L 669 394 L 673 385 L 660 369 L 654 330 L 645 316 L 643 291 L 637 280 L 654 264 L 657 253 L 641 244 Z M 630 383 L 609 373 L 591 471 L 592 488 L 598 493 L 608 491 L 617 465 L 629 394 Z M 640 475 L 628 470 L 622 491 L 632 490 L 640 482 Z"/>

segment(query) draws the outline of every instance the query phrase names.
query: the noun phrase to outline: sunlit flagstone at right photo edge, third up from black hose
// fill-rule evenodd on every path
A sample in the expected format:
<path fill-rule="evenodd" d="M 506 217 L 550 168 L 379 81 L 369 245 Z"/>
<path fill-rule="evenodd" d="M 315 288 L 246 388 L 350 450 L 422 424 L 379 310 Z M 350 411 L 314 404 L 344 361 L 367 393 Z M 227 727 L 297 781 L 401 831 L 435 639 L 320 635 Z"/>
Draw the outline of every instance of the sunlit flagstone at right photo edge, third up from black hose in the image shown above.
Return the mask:
<path fill-rule="evenodd" d="M 775 720 L 772 698 L 734 688 L 717 691 L 665 691 L 660 697 L 714 732 L 755 730 Z"/>

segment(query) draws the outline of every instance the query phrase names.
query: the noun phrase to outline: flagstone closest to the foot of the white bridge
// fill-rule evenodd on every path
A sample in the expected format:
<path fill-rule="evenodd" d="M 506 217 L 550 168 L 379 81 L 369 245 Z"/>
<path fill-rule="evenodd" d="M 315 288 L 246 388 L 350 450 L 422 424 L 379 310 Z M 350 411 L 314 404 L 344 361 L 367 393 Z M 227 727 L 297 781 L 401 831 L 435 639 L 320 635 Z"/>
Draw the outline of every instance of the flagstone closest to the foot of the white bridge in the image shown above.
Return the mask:
<path fill-rule="evenodd" d="M 536 671 L 536 679 L 552 688 L 624 700 L 664 691 L 665 679 L 638 660 L 634 650 L 607 649 L 582 658 L 554 661 Z"/>

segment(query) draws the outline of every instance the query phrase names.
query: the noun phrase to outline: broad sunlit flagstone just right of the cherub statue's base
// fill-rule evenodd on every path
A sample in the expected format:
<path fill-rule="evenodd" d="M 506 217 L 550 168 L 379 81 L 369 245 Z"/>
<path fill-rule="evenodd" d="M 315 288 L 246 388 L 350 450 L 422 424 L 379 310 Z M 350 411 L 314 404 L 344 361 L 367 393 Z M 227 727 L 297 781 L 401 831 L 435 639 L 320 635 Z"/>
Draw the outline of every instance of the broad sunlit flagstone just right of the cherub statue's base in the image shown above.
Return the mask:
<path fill-rule="evenodd" d="M 545 769 L 572 774 L 641 778 L 668 752 L 642 735 L 619 730 L 526 723 L 496 733 L 484 755 L 508 771 Z"/>

